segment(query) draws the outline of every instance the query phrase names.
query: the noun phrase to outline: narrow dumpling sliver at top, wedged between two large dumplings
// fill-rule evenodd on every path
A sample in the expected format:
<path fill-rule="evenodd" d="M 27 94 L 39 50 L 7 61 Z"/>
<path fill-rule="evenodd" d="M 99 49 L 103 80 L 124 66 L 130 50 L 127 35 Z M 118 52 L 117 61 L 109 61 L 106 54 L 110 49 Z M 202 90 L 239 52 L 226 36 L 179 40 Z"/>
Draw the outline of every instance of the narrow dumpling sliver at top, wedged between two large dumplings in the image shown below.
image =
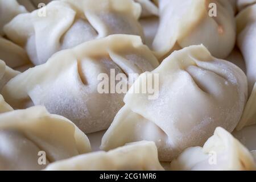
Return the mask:
<path fill-rule="evenodd" d="M 152 42 L 155 38 L 156 32 L 158 30 L 159 17 L 158 17 L 158 7 L 156 2 L 151 0 L 135 0 L 142 6 L 142 14 L 139 18 L 139 23 L 141 23 L 144 32 L 144 42 L 148 47 L 152 47 Z"/>

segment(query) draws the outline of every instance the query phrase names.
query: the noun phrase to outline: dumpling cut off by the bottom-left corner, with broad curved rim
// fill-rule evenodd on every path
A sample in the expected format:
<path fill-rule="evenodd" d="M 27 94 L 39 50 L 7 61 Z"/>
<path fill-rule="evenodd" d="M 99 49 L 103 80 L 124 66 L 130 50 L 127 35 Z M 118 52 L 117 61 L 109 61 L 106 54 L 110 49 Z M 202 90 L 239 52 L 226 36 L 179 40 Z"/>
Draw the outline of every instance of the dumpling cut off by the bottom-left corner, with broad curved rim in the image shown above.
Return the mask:
<path fill-rule="evenodd" d="M 88 138 L 71 121 L 43 106 L 0 114 L 0 169 L 35 170 L 39 151 L 47 163 L 90 151 Z"/>

